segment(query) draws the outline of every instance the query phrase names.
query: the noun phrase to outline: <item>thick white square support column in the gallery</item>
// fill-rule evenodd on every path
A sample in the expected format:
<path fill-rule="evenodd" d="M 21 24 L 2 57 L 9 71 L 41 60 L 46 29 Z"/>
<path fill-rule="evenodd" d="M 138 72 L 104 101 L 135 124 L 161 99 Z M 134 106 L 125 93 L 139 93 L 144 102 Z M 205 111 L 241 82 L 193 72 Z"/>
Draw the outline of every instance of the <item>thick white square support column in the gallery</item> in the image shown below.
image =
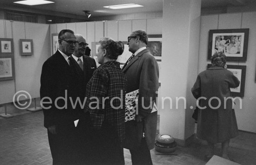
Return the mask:
<path fill-rule="evenodd" d="M 160 133 L 179 145 L 187 144 L 195 128 L 191 87 L 197 76 L 200 14 L 201 0 L 163 0 L 161 93 L 171 98 L 172 107 L 168 99 L 160 106 Z"/>

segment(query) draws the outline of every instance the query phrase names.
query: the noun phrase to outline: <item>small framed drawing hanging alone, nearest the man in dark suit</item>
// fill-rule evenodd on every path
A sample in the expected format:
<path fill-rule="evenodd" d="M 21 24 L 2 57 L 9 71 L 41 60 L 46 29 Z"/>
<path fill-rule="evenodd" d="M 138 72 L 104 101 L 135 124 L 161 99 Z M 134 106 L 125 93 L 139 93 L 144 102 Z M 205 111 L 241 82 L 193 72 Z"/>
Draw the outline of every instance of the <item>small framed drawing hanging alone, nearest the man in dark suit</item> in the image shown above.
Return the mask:
<path fill-rule="evenodd" d="M 33 54 L 33 40 L 20 39 L 20 55 L 27 56 Z"/>

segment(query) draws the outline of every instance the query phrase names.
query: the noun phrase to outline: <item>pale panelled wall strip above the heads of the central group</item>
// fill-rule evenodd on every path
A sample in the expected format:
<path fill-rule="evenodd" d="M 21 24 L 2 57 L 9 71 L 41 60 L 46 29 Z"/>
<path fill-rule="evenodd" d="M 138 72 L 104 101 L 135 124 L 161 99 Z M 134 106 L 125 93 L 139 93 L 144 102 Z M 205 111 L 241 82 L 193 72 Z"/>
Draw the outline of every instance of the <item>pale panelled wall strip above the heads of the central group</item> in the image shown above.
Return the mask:
<path fill-rule="evenodd" d="M 127 41 L 127 37 L 139 29 L 148 34 L 162 34 L 162 18 L 50 24 L 50 34 L 59 33 L 62 29 L 70 29 L 83 35 L 91 47 L 92 42 L 97 42 L 102 37 Z"/>

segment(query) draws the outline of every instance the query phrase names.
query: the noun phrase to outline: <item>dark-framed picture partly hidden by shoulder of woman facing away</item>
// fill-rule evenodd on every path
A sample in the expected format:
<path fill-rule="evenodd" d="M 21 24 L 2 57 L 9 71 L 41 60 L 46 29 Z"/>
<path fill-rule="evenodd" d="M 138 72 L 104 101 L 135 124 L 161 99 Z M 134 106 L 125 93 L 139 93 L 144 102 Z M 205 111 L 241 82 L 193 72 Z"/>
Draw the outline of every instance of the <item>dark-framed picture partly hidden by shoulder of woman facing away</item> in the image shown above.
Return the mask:
<path fill-rule="evenodd" d="M 209 68 L 210 66 L 211 64 L 208 64 L 207 68 Z M 227 69 L 231 71 L 240 81 L 240 85 L 238 87 L 230 88 L 232 96 L 243 97 L 245 87 L 246 66 L 227 65 Z"/>

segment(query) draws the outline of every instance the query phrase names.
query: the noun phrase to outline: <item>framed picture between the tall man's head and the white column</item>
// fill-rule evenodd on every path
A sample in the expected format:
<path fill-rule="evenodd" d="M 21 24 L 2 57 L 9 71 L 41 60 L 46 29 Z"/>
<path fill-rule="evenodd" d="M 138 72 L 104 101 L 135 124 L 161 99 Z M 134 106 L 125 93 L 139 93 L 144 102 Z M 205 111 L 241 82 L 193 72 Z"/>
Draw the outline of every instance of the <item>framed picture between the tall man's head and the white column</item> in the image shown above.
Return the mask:
<path fill-rule="evenodd" d="M 162 34 L 149 34 L 147 48 L 156 61 L 162 61 Z"/>

